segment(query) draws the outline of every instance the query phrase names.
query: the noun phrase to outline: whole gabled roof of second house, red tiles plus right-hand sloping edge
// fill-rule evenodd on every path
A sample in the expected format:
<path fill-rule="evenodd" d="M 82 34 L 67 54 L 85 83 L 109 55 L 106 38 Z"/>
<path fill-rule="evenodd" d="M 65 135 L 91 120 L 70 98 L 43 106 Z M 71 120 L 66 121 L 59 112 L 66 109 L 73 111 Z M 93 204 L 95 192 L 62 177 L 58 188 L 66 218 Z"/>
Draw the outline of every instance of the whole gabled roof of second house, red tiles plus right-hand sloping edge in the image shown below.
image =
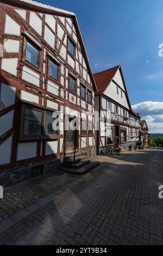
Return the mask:
<path fill-rule="evenodd" d="M 111 69 L 107 69 L 107 70 L 98 72 L 96 74 L 93 74 L 93 77 L 95 78 L 95 82 L 96 82 L 96 86 L 97 86 L 96 95 L 102 94 L 102 93 L 105 92 L 106 88 L 109 86 L 110 82 L 113 80 L 117 70 L 120 70 L 120 74 L 121 74 L 122 81 L 123 81 L 123 84 L 124 84 L 124 89 L 126 91 L 127 102 L 128 102 L 130 111 L 132 111 L 130 101 L 129 101 L 129 97 L 128 97 L 128 93 L 127 93 L 126 84 L 124 82 L 124 77 L 123 77 L 123 74 L 122 74 L 121 65 L 114 66 Z"/>

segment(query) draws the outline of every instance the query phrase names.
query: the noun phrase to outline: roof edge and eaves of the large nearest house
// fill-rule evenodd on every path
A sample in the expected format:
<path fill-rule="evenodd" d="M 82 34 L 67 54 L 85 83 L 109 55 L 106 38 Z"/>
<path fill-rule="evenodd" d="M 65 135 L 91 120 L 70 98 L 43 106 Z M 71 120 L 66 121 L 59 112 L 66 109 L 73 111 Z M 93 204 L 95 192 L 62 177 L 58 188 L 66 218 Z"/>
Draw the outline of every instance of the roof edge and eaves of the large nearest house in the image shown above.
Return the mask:
<path fill-rule="evenodd" d="M 35 2 L 32 0 L 0 0 L 0 3 L 12 5 L 14 7 L 18 7 L 18 8 L 22 8 L 22 9 L 27 9 L 30 11 L 36 11 L 38 13 L 45 13 L 45 14 L 58 15 L 58 16 L 71 18 L 74 22 L 74 26 L 75 26 L 77 34 L 78 34 L 80 46 L 81 46 L 83 54 L 84 54 L 84 58 L 85 58 L 85 61 L 87 64 L 87 69 L 89 70 L 93 88 L 94 88 L 95 92 L 97 91 L 96 83 L 95 83 L 94 77 L 92 75 L 91 66 L 89 63 L 89 59 L 87 57 L 87 53 L 85 50 L 82 34 L 80 32 L 80 28 L 78 25 L 77 17 L 74 13 L 71 13 L 70 11 L 62 10 L 62 9 L 59 9 L 56 7 L 52 7 L 51 5 L 38 3 L 38 2 Z"/>

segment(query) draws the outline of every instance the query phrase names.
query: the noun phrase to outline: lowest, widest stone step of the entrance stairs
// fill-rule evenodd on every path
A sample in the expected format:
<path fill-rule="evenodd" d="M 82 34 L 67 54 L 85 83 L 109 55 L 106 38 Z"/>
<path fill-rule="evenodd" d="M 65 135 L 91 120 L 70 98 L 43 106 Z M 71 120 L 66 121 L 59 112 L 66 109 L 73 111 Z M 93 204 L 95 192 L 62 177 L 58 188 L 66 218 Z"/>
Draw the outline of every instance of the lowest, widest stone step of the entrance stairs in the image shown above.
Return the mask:
<path fill-rule="evenodd" d="M 66 168 L 64 166 L 60 166 L 57 169 L 63 170 L 64 172 L 73 173 L 73 174 L 83 174 L 88 172 L 89 170 L 99 166 L 100 162 L 89 162 L 84 164 L 84 166 L 80 168 Z"/>

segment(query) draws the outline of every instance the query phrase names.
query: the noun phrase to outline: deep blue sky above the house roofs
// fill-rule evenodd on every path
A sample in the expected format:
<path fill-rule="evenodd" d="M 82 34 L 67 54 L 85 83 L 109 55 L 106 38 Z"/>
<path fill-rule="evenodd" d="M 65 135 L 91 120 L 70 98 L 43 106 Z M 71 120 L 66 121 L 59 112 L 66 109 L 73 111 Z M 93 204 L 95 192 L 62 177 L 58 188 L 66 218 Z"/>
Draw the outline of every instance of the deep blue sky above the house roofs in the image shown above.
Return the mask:
<path fill-rule="evenodd" d="M 131 105 L 141 112 L 137 103 L 149 101 L 142 114 L 155 120 L 157 116 L 149 111 L 150 101 L 157 103 L 155 108 L 161 102 L 158 114 L 163 121 L 163 57 L 158 54 L 158 46 L 163 44 L 162 0 L 39 2 L 76 13 L 92 71 L 120 64 Z M 163 133 L 162 126 L 152 132 Z"/>

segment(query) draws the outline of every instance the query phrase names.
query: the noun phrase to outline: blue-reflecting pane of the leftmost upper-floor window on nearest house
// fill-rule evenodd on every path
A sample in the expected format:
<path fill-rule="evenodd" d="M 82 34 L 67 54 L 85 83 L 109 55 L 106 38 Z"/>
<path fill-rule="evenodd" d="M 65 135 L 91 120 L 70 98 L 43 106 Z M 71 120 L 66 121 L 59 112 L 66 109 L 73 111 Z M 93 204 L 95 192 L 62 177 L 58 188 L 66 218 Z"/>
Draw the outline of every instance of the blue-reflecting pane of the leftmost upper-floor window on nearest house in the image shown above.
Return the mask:
<path fill-rule="evenodd" d="M 36 67 L 39 67 L 39 51 L 27 41 L 26 60 Z"/>

